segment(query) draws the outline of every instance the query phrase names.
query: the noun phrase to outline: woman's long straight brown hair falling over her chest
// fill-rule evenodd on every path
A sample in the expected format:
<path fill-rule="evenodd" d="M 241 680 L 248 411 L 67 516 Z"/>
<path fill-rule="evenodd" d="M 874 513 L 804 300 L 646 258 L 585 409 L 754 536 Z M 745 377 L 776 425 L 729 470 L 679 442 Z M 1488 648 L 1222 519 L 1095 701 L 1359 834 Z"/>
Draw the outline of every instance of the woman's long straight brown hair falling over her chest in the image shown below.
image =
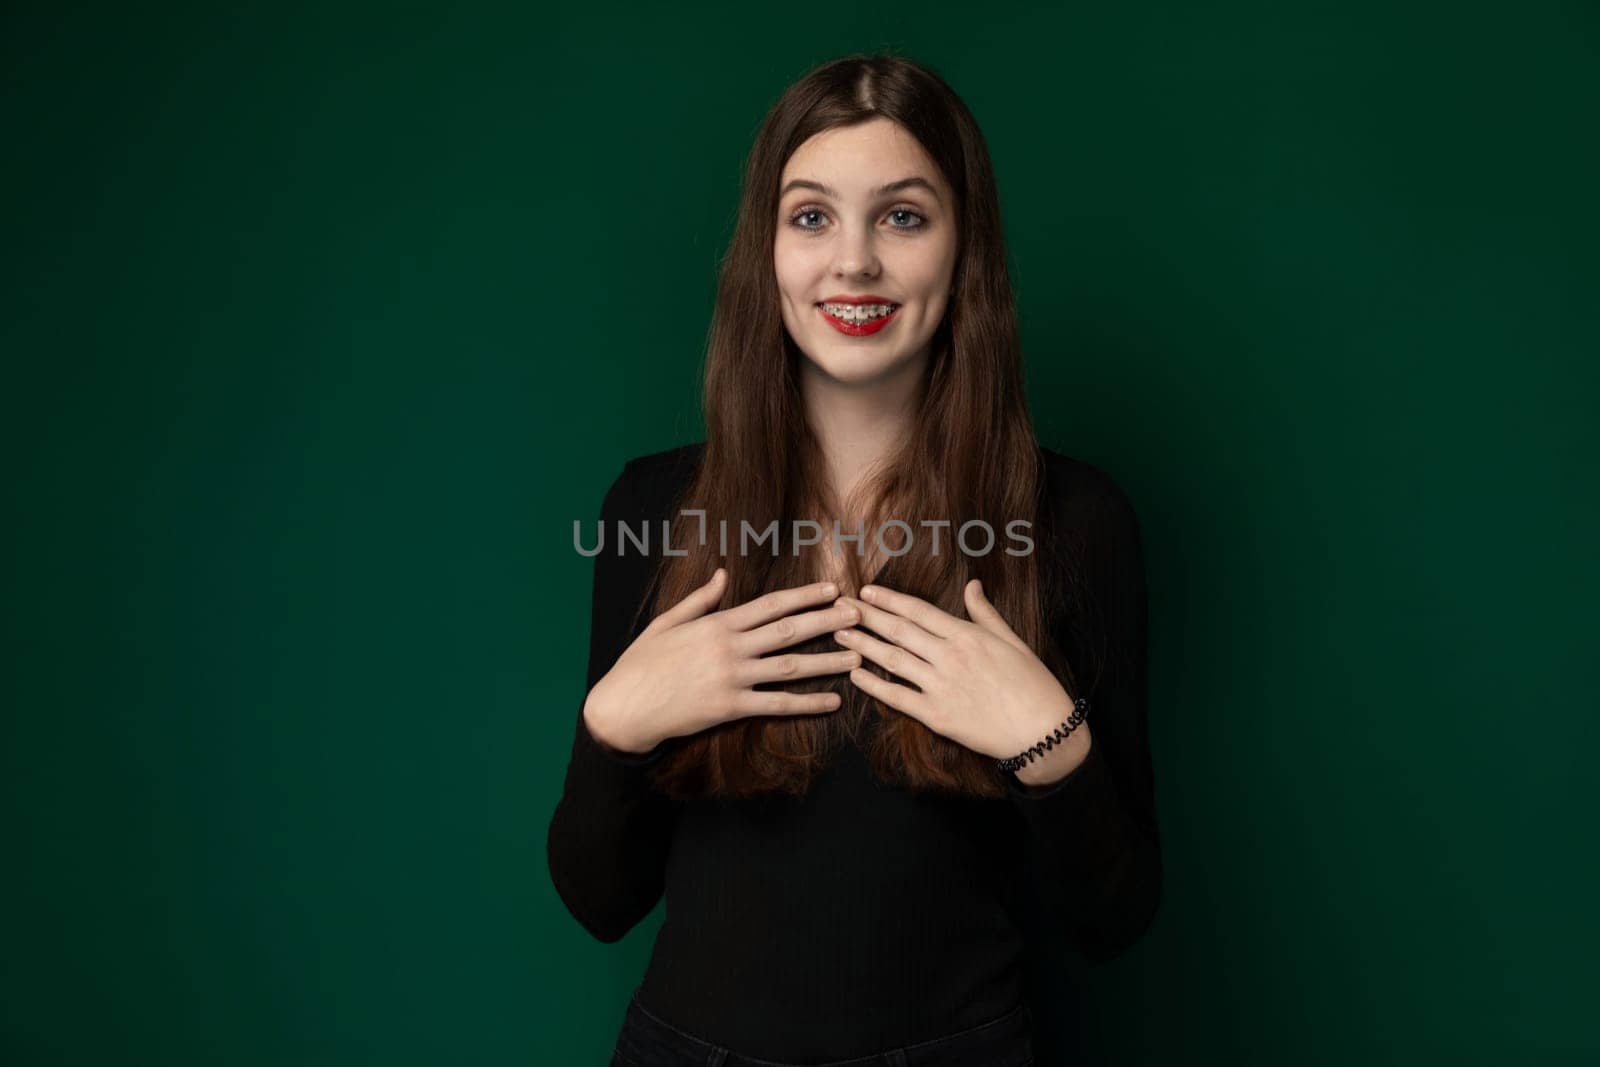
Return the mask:
<path fill-rule="evenodd" d="M 965 619 L 965 584 L 979 577 L 989 600 L 1016 633 L 1067 678 L 1067 665 L 1050 640 L 1050 601 L 1062 590 L 1048 565 L 1051 536 L 1045 506 L 1045 466 L 1034 440 L 1022 390 L 1016 309 L 1006 270 L 1000 202 L 989 149 L 971 112 L 933 70 L 899 56 L 853 54 L 827 62 L 790 85 L 768 112 L 750 150 L 739 218 L 722 264 L 715 317 L 706 358 L 706 446 L 680 509 L 704 509 L 706 544 L 675 536 L 683 557 L 667 557 L 656 571 L 659 613 L 728 568 L 718 608 L 733 608 L 763 592 L 803 585 L 824 573 L 830 544 L 830 507 L 821 450 L 805 418 L 797 365 L 803 358 L 782 326 L 773 240 L 778 182 L 789 157 L 813 134 L 886 117 L 907 130 L 955 190 L 958 254 L 949 310 L 933 339 L 923 400 L 904 443 L 864 478 L 861 518 L 842 520 L 842 533 L 866 522 L 866 549 L 883 518 L 910 523 L 917 534 L 906 555 L 882 574 L 862 574 L 845 552 L 845 590 L 875 581 L 920 597 Z M 850 501 L 854 506 L 856 501 Z M 853 512 L 854 514 L 854 512 Z M 674 512 L 674 525 L 686 522 Z M 818 550 L 797 555 L 790 520 L 829 515 Z M 950 520 L 931 550 L 922 518 Z M 950 542 L 970 520 L 997 534 L 986 555 L 965 555 Z M 1035 549 L 1010 555 L 1000 547 L 1006 523 L 1026 518 Z M 718 522 L 726 522 L 722 555 Z M 739 552 L 741 522 L 763 531 L 778 520 L 778 552 L 765 545 Z M 698 522 L 690 523 L 699 528 Z M 898 550 L 904 531 L 885 531 Z M 826 608 L 827 605 L 818 605 Z M 781 653 L 840 651 L 832 633 Z M 874 673 L 890 675 L 872 661 Z M 653 768 L 658 787 L 677 798 L 696 795 L 802 793 L 845 734 L 862 739 L 874 774 L 910 789 L 968 795 L 1003 795 L 994 758 L 976 753 L 856 688 L 848 675 L 824 675 L 757 688 L 797 693 L 834 691 L 840 709 L 814 715 L 747 717 L 675 737 Z M 875 728 L 872 728 L 875 726 Z M 870 728 L 870 729 L 869 729 Z M 866 737 L 864 737 L 866 734 Z"/>

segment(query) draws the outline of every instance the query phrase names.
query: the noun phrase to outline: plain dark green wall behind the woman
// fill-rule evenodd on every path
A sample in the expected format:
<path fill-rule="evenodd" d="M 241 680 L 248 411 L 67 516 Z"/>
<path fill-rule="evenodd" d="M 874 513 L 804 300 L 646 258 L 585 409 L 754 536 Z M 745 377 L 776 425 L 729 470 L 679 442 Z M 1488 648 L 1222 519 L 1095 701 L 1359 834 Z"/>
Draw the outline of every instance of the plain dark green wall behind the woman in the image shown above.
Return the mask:
<path fill-rule="evenodd" d="M 1594 1062 L 1600 14 L 1104 6 L 8 5 L 0 1061 L 605 1062 L 571 522 L 882 46 L 1146 533 L 1166 899 L 1043 1061 Z"/>

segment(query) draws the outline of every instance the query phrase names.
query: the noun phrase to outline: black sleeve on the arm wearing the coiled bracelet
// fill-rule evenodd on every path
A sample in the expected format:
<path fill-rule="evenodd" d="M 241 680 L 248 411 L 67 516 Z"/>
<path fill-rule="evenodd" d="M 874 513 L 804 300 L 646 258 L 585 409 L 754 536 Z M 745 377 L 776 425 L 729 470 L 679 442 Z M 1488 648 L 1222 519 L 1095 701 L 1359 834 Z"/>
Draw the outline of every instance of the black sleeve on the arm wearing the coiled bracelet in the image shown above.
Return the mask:
<path fill-rule="evenodd" d="M 1006 776 L 1013 803 L 1040 845 L 1046 905 L 1066 909 L 1080 952 L 1104 963 L 1133 945 L 1155 918 L 1162 853 L 1146 725 L 1146 584 L 1139 523 L 1128 498 L 1101 475 L 1074 502 L 1090 625 L 1106 657 L 1086 672 L 1091 745 L 1085 761 L 1050 785 Z M 1059 624 L 1058 624 L 1059 625 Z M 1070 648 L 1066 630 L 1056 635 Z"/>

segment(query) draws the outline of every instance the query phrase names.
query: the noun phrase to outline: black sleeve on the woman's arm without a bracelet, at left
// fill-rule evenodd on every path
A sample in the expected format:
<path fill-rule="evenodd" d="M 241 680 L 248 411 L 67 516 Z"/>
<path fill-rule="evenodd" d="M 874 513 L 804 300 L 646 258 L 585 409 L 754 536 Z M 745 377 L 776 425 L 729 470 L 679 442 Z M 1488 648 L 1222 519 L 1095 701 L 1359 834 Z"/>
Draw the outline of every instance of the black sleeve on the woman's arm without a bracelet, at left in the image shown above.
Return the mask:
<path fill-rule="evenodd" d="M 632 467 L 632 462 L 622 467 L 600 506 L 605 549 L 594 557 L 586 699 L 651 617 L 637 609 L 659 558 L 642 555 L 634 545 L 627 555 L 616 553 L 619 518 L 635 531 L 642 520 L 662 518 L 646 514 Z M 664 747 L 624 755 L 602 745 L 584 725 L 582 705 L 579 701 L 573 752 L 546 849 L 550 881 L 566 909 L 584 929 L 610 944 L 621 941 L 661 899 L 677 805 L 646 777 Z"/>

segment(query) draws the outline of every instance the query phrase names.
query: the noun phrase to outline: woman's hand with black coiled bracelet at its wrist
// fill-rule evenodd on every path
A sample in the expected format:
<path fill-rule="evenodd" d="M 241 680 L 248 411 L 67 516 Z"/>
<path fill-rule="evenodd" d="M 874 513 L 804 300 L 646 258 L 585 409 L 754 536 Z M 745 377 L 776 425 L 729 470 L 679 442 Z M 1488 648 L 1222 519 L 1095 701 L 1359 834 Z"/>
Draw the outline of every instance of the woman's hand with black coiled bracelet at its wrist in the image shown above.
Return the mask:
<path fill-rule="evenodd" d="M 864 585 L 861 600 L 840 597 L 861 609 L 859 629 L 834 637 L 864 659 L 922 689 L 896 685 L 858 667 L 850 680 L 869 696 L 917 718 L 925 726 L 973 752 L 997 760 L 1038 744 L 1072 715 L 1072 697 L 1061 681 L 1018 637 L 982 593 L 978 579 L 966 582 L 966 619 L 957 619 L 909 593 Z M 1088 755 L 1088 723 L 1080 723 L 1045 760 L 1050 777 L 1070 774 Z M 1024 765 L 1018 777 L 1038 768 Z M 1037 771 L 1035 771 L 1037 773 Z"/>

